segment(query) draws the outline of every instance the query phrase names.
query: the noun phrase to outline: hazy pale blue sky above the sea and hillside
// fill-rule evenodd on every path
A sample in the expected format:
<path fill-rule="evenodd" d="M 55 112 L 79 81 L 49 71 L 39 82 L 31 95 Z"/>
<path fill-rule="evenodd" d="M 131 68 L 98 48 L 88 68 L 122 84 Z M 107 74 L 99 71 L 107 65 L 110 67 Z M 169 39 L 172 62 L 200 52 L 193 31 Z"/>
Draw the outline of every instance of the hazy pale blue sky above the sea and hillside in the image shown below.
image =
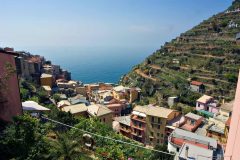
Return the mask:
<path fill-rule="evenodd" d="M 159 48 L 232 0 L 0 0 L 0 46 Z"/>

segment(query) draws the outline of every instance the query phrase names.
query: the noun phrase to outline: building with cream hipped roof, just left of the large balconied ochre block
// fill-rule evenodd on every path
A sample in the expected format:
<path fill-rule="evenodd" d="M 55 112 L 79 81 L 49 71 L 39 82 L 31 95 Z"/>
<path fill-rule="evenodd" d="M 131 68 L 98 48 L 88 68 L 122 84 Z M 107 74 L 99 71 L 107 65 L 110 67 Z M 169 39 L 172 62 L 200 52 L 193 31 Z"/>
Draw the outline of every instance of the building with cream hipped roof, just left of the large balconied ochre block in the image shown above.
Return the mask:
<path fill-rule="evenodd" d="M 93 104 L 87 107 L 90 117 L 97 117 L 100 122 L 112 127 L 113 112 L 107 107 L 100 104 Z"/>

